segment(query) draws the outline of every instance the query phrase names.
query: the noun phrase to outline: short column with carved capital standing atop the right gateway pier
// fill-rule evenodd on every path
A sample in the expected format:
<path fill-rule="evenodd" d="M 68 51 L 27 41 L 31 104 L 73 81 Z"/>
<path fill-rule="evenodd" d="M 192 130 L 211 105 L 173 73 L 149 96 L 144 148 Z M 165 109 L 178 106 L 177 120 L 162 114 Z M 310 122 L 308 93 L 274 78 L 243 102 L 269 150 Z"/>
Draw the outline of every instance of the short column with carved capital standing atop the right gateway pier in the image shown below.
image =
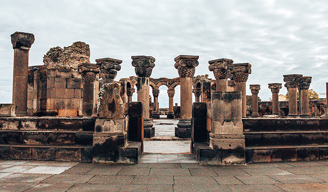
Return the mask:
<path fill-rule="evenodd" d="M 216 59 L 208 61 L 208 70 L 213 71 L 216 79 L 216 91 L 227 91 L 228 78 L 233 68 L 233 60 L 231 59 Z"/>

